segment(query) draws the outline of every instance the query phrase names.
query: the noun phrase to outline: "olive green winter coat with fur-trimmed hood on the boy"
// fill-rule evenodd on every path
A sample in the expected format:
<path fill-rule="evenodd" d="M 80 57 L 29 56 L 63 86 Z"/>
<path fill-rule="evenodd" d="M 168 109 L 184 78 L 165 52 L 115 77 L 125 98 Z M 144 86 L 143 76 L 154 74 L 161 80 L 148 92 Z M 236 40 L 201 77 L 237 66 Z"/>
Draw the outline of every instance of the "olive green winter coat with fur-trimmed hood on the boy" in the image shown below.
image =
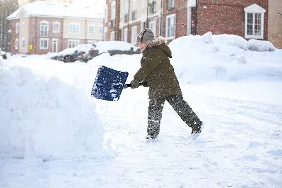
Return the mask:
<path fill-rule="evenodd" d="M 179 82 L 170 64 L 171 51 L 164 37 L 147 42 L 141 58 L 141 68 L 134 75 L 140 82 L 146 81 L 149 99 L 159 99 L 171 95 L 182 95 Z"/>

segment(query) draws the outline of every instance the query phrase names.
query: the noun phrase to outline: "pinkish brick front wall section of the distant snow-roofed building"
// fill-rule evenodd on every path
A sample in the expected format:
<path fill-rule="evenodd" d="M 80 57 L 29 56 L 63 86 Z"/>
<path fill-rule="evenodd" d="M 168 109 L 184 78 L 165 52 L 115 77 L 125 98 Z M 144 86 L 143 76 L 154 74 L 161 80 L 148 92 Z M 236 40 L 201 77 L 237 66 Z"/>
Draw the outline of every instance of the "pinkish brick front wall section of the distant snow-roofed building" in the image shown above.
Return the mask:
<path fill-rule="evenodd" d="M 40 36 L 40 22 L 46 20 L 49 22 L 48 36 Z M 53 33 L 53 22 L 60 23 L 60 32 Z M 40 49 L 40 38 L 48 38 L 48 49 Z M 58 52 L 62 51 L 62 38 L 63 38 L 63 19 L 61 18 L 46 18 L 46 17 L 31 17 L 29 19 L 29 45 L 33 45 L 34 50 L 30 54 L 47 54 L 52 51 L 52 39 L 58 40 Z"/>

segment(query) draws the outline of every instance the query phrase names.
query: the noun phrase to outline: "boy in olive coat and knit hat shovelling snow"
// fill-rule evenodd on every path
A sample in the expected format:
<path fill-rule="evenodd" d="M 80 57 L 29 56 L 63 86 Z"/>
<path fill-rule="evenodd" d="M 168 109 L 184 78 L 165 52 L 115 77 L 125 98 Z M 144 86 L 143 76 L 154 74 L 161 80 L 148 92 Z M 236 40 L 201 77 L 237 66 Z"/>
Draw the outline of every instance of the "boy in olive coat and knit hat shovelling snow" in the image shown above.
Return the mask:
<path fill-rule="evenodd" d="M 168 101 L 181 119 L 192 128 L 191 134 L 201 132 L 202 121 L 184 101 L 179 82 L 170 64 L 171 51 L 164 37 L 155 39 L 151 29 L 145 28 L 137 35 L 137 42 L 143 57 L 141 68 L 131 81 L 131 88 L 146 81 L 149 87 L 148 135 L 155 139 L 160 132 L 160 121 L 165 101 Z"/>

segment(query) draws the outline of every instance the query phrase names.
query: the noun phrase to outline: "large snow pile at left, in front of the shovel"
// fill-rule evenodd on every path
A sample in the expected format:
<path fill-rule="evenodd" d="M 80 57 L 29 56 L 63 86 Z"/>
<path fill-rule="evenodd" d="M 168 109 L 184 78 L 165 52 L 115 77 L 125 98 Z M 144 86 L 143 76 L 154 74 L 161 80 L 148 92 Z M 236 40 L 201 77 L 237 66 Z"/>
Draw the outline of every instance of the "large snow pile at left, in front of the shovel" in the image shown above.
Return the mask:
<path fill-rule="evenodd" d="M 101 150 L 102 122 L 83 91 L 0 61 L 0 155 L 54 160 Z"/>

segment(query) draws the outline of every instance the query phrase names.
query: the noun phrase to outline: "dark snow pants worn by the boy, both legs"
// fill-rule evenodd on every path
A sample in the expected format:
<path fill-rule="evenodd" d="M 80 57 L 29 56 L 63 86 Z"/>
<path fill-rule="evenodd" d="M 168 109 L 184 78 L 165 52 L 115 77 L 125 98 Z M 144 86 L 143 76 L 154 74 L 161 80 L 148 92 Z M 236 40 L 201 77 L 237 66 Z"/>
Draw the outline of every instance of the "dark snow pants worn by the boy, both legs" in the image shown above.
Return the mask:
<path fill-rule="evenodd" d="M 160 133 L 160 122 L 165 101 L 172 106 L 189 127 L 193 127 L 195 123 L 200 122 L 200 119 L 183 99 L 182 95 L 171 95 L 165 98 L 153 99 L 149 101 L 147 129 L 149 135 L 156 136 Z"/>

